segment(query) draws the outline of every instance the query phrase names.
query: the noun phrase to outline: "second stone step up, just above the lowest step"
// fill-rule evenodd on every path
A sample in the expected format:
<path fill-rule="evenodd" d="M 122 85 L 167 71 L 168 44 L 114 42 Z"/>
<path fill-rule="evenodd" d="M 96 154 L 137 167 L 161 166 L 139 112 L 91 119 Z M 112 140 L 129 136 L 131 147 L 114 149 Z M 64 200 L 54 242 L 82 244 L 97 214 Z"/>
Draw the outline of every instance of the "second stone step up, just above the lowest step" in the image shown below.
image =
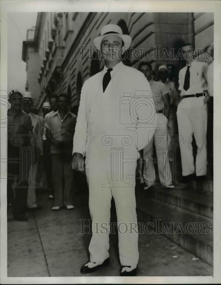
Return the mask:
<path fill-rule="evenodd" d="M 147 190 L 150 198 L 180 207 L 204 217 L 213 219 L 213 194 L 199 193 L 195 189 L 152 188 Z"/>

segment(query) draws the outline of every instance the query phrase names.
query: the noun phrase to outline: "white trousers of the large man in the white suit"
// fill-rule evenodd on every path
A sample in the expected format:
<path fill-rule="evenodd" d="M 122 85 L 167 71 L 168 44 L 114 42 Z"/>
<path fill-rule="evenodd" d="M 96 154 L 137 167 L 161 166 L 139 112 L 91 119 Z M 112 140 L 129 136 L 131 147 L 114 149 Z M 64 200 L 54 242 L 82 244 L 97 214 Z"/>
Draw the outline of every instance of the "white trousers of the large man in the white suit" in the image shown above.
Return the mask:
<path fill-rule="evenodd" d="M 109 233 L 111 199 L 115 201 L 118 224 L 118 247 L 121 265 L 135 268 L 138 263 L 138 233 L 135 200 L 136 161 L 125 163 L 124 182 L 118 178 L 111 181 L 110 149 L 105 153 L 93 146 L 86 158 L 86 176 L 89 185 L 89 209 L 92 221 L 92 238 L 89 245 L 90 261 L 97 264 L 109 257 Z M 117 157 L 115 156 L 117 159 Z M 116 162 L 114 158 L 114 163 Z M 114 164 L 115 165 L 115 164 Z M 116 167 L 114 171 L 116 172 Z M 113 170 L 113 168 L 112 168 Z M 134 177 L 126 178 L 126 175 Z M 111 182 L 109 184 L 109 182 Z M 125 187 L 125 183 L 131 184 Z M 102 186 L 102 184 L 106 184 Z M 108 184 L 108 185 L 107 185 Z M 121 186 L 120 186 L 121 185 Z M 103 224 L 102 224 L 103 223 Z M 102 225 L 106 230 L 101 232 Z M 130 232 L 131 227 L 132 229 Z M 120 232 L 119 232 L 120 229 Z"/>

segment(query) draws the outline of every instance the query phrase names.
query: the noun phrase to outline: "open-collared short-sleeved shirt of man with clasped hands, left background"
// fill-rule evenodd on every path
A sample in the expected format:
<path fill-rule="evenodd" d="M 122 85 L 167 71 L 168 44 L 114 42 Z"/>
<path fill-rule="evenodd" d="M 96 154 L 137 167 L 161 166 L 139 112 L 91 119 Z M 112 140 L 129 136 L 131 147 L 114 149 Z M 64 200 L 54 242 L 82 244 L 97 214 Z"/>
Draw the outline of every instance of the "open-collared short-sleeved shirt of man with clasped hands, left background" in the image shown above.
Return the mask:
<path fill-rule="evenodd" d="M 64 145 L 64 147 L 61 148 L 57 148 L 51 144 L 51 154 L 72 153 L 76 120 L 77 116 L 71 112 L 68 112 L 63 120 L 61 120 L 58 111 L 45 117 L 45 127 L 51 132 L 53 139 L 61 143 L 65 143 L 67 140 L 70 142 L 72 140 L 72 144 L 69 143 L 68 146 Z"/>

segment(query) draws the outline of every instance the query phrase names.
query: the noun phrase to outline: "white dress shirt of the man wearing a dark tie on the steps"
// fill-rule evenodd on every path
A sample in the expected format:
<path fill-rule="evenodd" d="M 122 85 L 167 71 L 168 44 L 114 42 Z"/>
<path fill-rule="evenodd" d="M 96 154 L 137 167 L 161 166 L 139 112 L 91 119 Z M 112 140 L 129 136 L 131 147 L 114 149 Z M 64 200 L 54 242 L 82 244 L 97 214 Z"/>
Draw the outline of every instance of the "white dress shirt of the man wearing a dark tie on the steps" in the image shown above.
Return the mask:
<path fill-rule="evenodd" d="M 206 62 L 199 62 L 194 60 L 190 65 L 190 88 L 184 90 L 184 80 L 187 70 L 187 65 L 179 72 L 179 90 L 180 96 L 192 95 L 196 93 L 203 93 L 207 90 L 207 70 L 208 64 Z"/>

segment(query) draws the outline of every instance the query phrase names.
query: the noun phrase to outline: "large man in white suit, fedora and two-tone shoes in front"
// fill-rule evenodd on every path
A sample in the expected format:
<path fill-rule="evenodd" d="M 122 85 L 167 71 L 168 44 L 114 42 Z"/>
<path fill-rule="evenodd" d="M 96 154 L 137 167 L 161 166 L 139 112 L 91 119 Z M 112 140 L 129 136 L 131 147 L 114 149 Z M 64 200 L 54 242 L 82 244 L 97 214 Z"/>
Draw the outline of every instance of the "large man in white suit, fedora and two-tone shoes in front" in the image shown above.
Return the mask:
<path fill-rule="evenodd" d="M 130 47 L 130 36 L 122 34 L 119 26 L 109 24 L 101 29 L 101 36 L 94 39 L 94 44 L 101 49 L 105 66 L 82 87 L 73 140 L 72 166 L 74 170 L 86 172 L 93 232 L 90 261 L 81 267 L 81 273 L 93 272 L 109 263 L 113 196 L 118 221 L 120 275 L 134 276 L 139 258 L 136 160 L 138 150 L 153 136 L 156 109 L 144 75 L 124 66 L 120 60 L 119 51 Z"/>

